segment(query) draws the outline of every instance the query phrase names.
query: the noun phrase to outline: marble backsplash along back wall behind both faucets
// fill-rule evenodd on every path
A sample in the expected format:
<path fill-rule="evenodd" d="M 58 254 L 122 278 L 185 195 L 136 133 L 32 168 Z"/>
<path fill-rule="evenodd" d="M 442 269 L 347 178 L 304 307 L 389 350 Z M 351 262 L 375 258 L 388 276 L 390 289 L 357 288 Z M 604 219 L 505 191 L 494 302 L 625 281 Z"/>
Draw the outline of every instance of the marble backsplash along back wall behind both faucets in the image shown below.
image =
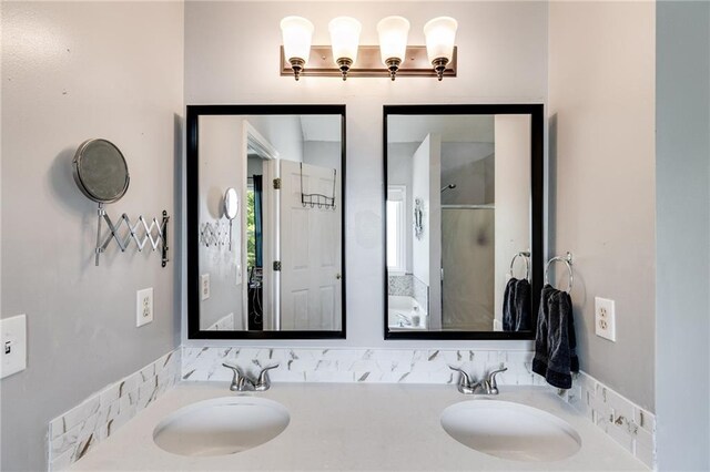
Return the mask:
<path fill-rule="evenodd" d="M 194 348 L 183 347 L 183 381 L 229 381 L 239 366 L 253 376 L 264 367 L 275 382 L 383 382 L 454 383 L 458 373 L 448 365 L 463 367 L 475 378 L 508 368 L 498 376 L 500 384 L 545 384 L 532 373 L 531 351 L 464 349 L 288 349 L 288 348 Z"/>

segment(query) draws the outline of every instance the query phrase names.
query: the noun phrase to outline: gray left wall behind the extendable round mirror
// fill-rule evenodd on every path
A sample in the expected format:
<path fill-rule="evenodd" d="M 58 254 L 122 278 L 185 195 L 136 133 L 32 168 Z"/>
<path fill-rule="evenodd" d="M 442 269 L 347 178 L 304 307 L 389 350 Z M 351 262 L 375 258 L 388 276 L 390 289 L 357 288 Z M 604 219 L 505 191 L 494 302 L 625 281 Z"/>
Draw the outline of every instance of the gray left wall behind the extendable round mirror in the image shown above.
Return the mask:
<path fill-rule="evenodd" d="M 161 268 L 159 254 L 120 254 L 113 245 L 94 267 L 97 205 L 74 185 L 71 158 L 87 138 L 113 141 L 132 179 L 109 214 L 134 218 L 166 209 L 174 217 L 183 6 L 1 8 L 0 311 L 3 318 L 27 314 L 29 348 L 27 370 L 0 382 L 0 469 L 40 471 L 51 419 L 179 340 L 178 255 Z M 174 237 L 171 243 L 178 247 Z M 154 289 L 154 321 L 135 328 L 135 291 L 145 287 Z"/>

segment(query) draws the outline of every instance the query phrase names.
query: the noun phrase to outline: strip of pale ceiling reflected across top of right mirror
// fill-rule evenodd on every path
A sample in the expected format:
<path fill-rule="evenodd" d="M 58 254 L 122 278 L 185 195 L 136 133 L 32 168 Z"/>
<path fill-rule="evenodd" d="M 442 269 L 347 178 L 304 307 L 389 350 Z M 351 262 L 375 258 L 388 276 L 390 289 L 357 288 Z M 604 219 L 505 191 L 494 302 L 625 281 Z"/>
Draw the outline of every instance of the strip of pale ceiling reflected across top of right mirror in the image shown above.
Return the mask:
<path fill-rule="evenodd" d="M 420 143 L 427 134 L 443 143 L 493 143 L 493 115 L 389 115 L 388 143 Z"/>

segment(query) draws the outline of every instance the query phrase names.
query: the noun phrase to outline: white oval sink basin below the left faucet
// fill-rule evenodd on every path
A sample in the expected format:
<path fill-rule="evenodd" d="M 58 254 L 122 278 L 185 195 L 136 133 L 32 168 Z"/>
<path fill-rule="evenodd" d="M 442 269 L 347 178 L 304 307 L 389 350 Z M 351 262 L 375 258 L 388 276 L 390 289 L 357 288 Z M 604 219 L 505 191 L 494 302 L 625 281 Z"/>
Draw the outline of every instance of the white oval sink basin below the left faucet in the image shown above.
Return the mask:
<path fill-rule="evenodd" d="M 181 408 L 161 421 L 153 441 L 180 455 L 225 455 L 276 438 L 288 425 L 284 406 L 255 397 L 225 397 Z"/>

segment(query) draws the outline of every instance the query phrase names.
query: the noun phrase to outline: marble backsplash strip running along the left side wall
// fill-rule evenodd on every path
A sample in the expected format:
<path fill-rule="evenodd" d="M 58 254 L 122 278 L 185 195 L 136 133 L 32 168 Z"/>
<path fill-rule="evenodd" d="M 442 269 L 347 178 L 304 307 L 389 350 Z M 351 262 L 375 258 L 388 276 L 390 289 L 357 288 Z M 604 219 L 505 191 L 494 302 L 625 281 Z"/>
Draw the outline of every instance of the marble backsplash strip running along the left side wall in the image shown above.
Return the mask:
<path fill-rule="evenodd" d="M 180 381 L 181 349 L 105 387 L 49 424 L 49 470 L 83 458 Z"/>

